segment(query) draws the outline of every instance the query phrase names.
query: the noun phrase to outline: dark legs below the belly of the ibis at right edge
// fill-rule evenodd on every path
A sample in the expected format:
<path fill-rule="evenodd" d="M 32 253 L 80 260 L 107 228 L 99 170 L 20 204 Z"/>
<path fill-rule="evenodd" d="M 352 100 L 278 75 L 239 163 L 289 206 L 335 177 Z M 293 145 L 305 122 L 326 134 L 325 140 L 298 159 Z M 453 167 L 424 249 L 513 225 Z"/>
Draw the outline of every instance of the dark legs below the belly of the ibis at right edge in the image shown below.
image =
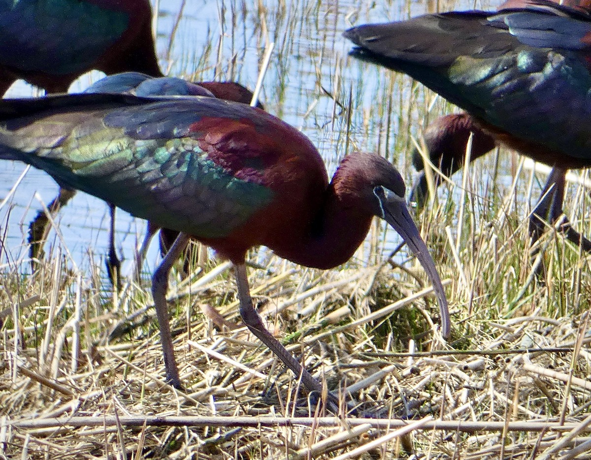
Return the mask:
<path fill-rule="evenodd" d="M 532 243 L 540 239 L 544 231 L 543 220 L 554 224 L 563 214 L 564 187 L 566 182 L 566 169 L 553 168 L 548 175 L 548 180 L 542 191 L 542 198 L 535 206 L 530 217 L 530 236 Z M 565 220 L 560 227 L 564 235 L 574 244 L 580 245 L 586 252 L 591 252 L 591 241 L 571 227 L 570 222 Z"/>

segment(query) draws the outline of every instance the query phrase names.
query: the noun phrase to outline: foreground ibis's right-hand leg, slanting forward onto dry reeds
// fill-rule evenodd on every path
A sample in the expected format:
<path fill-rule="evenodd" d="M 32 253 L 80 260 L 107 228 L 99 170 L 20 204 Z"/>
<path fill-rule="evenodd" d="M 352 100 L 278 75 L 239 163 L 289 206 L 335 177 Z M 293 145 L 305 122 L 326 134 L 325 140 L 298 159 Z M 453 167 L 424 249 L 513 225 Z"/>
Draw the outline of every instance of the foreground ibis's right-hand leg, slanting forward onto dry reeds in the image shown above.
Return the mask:
<path fill-rule="evenodd" d="M 287 349 L 277 341 L 275 337 L 267 330 L 262 322 L 260 315 L 252 306 L 251 293 L 246 278 L 246 266 L 241 263 L 234 266 L 236 275 L 236 284 L 238 285 L 238 298 L 240 301 L 240 315 L 242 321 L 250 331 L 261 340 L 269 350 L 271 350 L 285 366 L 291 369 L 297 377 L 301 376 L 301 381 L 310 392 L 319 392 L 322 394 L 322 383 L 314 379 L 311 374 L 301 366 L 301 364 L 287 351 Z"/>

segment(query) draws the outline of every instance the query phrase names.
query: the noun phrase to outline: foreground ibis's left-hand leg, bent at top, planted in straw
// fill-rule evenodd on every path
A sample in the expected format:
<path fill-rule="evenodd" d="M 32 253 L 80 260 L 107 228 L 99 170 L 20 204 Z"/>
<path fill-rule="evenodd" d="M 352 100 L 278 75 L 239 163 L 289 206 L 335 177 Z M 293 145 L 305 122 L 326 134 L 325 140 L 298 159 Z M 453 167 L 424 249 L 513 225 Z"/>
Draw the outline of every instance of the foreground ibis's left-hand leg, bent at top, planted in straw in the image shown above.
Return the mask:
<path fill-rule="evenodd" d="M 174 359 L 173 337 L 170 333 L 170 322 L 168 322 L 168 308 L 166 305 L 166 291 L 168 289 L 168 273 L 178 256 L 183 252 L 189 243 L 189 236 L 184 233 L 178 234 L 173 246 L 168 251 L 160 266 L 152 276 L 152 297 L 156 308 L 156 317 L 160 325 L 160 341 L 164 353 L 164 366 L 166 367 L 166 380 L 173 387 L 181 389 L 181 380 L 178 376 L 177 362 Z"/>

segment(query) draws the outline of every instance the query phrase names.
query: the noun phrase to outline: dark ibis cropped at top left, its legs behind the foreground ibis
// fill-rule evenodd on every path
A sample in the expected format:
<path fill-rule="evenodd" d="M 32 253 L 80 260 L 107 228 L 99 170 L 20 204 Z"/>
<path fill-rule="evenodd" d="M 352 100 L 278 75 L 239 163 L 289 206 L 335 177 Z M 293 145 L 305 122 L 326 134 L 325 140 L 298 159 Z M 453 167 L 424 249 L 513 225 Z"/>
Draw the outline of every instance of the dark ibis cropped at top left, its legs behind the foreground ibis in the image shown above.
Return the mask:
<path fill-rule="evenodd" d="M 137 71 L 162 76 L 152 36 L 149 0 L 19 0 L 0 2 L 0 94 L 23 79 L 48 93 L 67 92 L 90 70 L 106 74 Z M 55 215 L 73 196 L 60 188 L 48 209 Z M 111 208 L 109 277 L 119 280 Z M 30 224 L 31 266 L 43 257 L 48 219 L 43 211 Z"/>

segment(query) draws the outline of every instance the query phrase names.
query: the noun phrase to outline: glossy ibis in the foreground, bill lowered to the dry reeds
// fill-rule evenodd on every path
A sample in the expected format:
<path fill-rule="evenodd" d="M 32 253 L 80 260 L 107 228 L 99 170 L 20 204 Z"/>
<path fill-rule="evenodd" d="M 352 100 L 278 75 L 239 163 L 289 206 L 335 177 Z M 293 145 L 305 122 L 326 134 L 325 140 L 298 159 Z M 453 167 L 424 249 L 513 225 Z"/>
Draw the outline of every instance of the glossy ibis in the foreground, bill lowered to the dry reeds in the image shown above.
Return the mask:
<path fill-rule="evenodd" d="M 398 171 L 374 154 L 351 154 L 332 182 L 302 133 L 263 110 L 212 97 L 76 94 L 0 102 L 0 159 L 48 172 L 152 224 L 180 231 L 154 272 L 167 380 L 180 387 L 165 291 L 190 237 L 235 267 L 240 313 L 309 390 L 322 385 L 267 331 L 256 313 L 245 256 L 264 245 L 300 265 L 346 262 L 374 216 L 405 239 L 433 283 L 442 333 L 450 331 L 443 286 L 405 204 Z M 51 127 L 51 128 L 50 128 Z"/>

